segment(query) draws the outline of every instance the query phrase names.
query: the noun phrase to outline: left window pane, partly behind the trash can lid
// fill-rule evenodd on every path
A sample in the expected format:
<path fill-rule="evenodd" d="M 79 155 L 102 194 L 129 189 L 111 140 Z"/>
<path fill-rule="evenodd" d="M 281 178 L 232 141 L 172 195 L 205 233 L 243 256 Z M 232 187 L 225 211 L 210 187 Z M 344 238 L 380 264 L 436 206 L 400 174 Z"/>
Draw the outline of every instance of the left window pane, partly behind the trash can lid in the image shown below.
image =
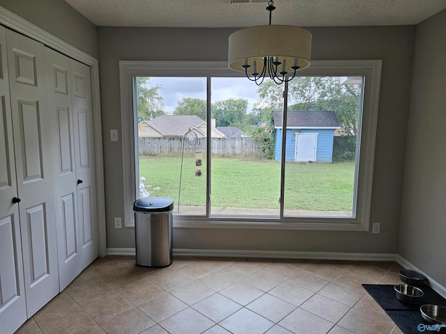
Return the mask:
<path fill-rule="evenodd" d="M 135 86 L 139 197 L 206 214 L 206 78 L 137 77 Z"/>

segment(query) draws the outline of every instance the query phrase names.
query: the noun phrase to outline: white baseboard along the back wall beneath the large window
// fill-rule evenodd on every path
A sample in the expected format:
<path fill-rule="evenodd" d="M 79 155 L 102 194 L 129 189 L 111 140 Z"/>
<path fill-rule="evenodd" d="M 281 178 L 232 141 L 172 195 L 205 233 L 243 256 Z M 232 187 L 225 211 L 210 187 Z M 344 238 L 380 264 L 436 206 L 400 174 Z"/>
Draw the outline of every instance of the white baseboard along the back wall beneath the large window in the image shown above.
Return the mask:
<path fill-rule="evenodd" d="M 107 255 L 135 255 L 134 248 L 107 248 Z M 395 261 L 397 254 L 390 253 L 332 253 L 282 250 L 229 250 L 174 248 L 175 256 L 203 257 L 259 257 L 268 259 Z"/>

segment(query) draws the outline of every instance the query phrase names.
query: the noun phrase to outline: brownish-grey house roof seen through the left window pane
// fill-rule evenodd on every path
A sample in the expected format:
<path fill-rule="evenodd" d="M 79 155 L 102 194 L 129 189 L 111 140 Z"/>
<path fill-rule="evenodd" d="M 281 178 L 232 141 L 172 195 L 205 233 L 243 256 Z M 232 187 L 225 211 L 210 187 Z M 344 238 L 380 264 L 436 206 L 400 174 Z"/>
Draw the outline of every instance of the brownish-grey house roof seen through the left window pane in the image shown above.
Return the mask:
<path fill-rule="evenodd" d="M 197 115 L 161 115 L 144 122 L 155 127 L 163 136 L 183 136 L 190 128 L 203 124 L 204 120 Z"/>

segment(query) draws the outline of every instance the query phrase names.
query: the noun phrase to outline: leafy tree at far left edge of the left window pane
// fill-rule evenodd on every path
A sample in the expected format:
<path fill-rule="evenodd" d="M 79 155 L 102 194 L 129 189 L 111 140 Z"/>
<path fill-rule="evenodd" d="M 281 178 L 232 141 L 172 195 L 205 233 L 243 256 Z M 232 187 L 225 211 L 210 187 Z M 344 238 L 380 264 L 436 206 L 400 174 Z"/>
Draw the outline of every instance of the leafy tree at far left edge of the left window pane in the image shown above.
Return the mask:
<path fill-rule="evenodd" d="M 150 80 L 150 77 L 137 77 L 138 123 L 164 115 L 164 99 L 160 95 L 162 86 L 151 86 Z"/>

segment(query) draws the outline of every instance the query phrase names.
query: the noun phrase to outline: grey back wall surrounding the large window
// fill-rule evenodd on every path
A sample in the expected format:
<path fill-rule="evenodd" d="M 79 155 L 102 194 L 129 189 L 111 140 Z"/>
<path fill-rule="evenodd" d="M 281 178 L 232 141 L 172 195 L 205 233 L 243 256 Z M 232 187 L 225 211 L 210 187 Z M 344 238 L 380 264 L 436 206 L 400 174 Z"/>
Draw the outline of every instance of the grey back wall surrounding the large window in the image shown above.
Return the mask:
<path fill-rule="evenodd" d="M 315 60 L 382 59 L 371 221 L 381 233 L 307 230 L 174 229 L 175 248 L 397 253 L 415 26 L 312 28 Z M 133 247 L 134 230 L 113 228 L 123 217 L 118 61 L 226 61 L 233 29 L 98 27 L 104 134 L 107 246 Z"/>

